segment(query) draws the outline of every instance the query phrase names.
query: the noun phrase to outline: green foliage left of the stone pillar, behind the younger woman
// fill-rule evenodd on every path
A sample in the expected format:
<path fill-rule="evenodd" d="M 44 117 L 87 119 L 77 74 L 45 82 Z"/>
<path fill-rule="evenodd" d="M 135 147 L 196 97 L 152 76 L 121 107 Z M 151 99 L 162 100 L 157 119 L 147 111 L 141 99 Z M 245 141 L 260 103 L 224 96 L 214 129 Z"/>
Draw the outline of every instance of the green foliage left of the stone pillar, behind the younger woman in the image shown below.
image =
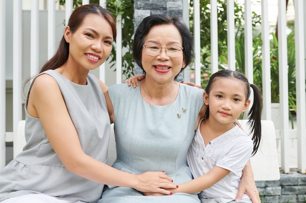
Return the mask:
<path fill-rule="evenodd" d="M 99 0 L 90 0 L 90 3 L 99 4 Z M 65 0 L 59 0 L 60 5 L 65 5 Z M 134 0 L 107 0 L 107 9 L 116 18 L 119 14 L 122 15 L 122 74 L 125 77 L 133 75 L 134 63 L 132 55 L 134 20 L 133 14 Z M 73 0 L 73 8 L 82 5 L 82 0 Z M 116 63 L 116 48 L 113 47 L 110 57 L 110 67 L 113 68 Z M 116 71 L 116 70 L 114 70 Z"/>

